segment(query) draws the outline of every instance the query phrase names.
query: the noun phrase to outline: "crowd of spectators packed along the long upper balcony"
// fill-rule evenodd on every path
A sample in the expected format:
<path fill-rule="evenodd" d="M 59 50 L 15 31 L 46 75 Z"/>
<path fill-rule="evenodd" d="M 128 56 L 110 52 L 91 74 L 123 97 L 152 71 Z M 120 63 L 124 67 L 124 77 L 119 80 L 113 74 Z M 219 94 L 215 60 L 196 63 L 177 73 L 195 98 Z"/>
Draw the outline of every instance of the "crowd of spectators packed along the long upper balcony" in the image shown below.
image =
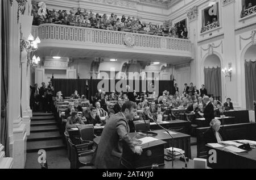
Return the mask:
<path fill-rule="evenodd" d="M 112 13 L 100 15 L 94 14 L 92 10 L 49 10 L 46 9 L 46 15 L 38 13 L 38 7 L 34 6 L 32 9 L 34 16 L 33 25 L 39 26 L 45 23 L 63 24 L 67 26 L 90 27 L 102 30 L 125 31 L 149 35 L 169 36 L 176 38 L 187 39 L 187 28 L 180 22 L 171 25 L 171 23 L 164 22 L 162 25 L 141 22 L 135 16 L 119 17 Z"/>

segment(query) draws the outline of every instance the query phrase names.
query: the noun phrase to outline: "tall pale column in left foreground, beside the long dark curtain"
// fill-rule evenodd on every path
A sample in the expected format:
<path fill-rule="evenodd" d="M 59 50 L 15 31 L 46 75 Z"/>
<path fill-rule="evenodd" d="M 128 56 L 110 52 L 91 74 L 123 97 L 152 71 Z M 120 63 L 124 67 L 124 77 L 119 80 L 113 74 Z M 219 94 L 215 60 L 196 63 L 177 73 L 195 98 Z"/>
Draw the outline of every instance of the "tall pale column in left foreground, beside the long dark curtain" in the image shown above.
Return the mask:
<path fill-rule="evenodd" d="M 21 67 L 19 47 L 18 3 L 13 1 L 10 20 L 10 67 L 9 67 L 9 99 L 7 113 L 9 116 L 10 156 L 14 158 L 13 168 L 24 168 L 26 162 L 26 125 L 21 118 Z M 21 7 L 22 9 L 22 7 Z M 23 77 L 25 78 L 25 77 Z"/>

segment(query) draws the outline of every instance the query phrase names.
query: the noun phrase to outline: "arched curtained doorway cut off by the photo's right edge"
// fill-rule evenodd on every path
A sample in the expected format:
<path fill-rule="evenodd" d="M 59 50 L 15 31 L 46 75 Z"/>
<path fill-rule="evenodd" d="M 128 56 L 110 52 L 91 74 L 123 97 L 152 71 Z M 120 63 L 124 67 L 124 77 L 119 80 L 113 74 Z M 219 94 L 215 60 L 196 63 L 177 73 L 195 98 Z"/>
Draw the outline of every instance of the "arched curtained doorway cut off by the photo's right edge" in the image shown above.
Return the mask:
<path fill-rule="evenodd" d="M 256 45 L 251 45 L 245 52 L 245 95 L 246 108 L 253 110 L 256 100 Z"/>

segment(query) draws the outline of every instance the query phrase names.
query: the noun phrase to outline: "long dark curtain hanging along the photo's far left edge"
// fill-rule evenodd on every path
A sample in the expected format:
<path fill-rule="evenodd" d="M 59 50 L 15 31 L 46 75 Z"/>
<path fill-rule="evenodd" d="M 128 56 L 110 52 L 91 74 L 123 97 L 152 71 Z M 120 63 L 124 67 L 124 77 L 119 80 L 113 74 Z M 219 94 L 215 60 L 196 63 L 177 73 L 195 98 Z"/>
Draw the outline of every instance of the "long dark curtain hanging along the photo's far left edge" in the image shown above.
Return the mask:
<path fill-rule="evenodd" d="M 9 51 L 10 51 L 10 30 L 9 30 L 9 14 L 10 1 L 1 1 L 1 141 L 5 146 L 6 156 L 9 157 L 9 132 L 8 117 L 6 112 L 7 96 L 8 96 L 8 77 L 9 77 Z"/>

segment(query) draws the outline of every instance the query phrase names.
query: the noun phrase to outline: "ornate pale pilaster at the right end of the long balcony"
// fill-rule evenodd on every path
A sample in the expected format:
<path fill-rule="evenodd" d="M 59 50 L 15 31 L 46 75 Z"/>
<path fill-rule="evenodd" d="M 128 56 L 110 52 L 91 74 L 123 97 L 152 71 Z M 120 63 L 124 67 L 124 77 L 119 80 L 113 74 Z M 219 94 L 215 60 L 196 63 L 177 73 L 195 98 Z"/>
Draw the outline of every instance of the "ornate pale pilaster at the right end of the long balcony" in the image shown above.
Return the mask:
<path fill-rule="evenodd" d="M 197 85 L 197 87 L 200 87 L 200 83 L 203 82 L 198 82 L 200 79 L 200 71 L 198 70 L 198 68 L 201 68 L 199 65 L 199 52 L 197 51 L 197 39 L 198 36 L 200 34 L 200 30 L 197 26 L 197 17 L 198 17 L 198 7 L 194 6 L 191 9 L 187 10 L 187 16 L 188 16 L 188 24 L 187 24 L 187 28 L 188 28 L 188 36 L 189 36 L 189 40 L 191 40 L 191 49 L 192 49 L 192 60 L 190 63 L 191 66 L 191 77 L 197 77 L 197 78 L 191 78 L 191 82 L 193 81 L 193 83 L 195 85 Z M 189 82 L 188 82 L 189 83 Z"/>

